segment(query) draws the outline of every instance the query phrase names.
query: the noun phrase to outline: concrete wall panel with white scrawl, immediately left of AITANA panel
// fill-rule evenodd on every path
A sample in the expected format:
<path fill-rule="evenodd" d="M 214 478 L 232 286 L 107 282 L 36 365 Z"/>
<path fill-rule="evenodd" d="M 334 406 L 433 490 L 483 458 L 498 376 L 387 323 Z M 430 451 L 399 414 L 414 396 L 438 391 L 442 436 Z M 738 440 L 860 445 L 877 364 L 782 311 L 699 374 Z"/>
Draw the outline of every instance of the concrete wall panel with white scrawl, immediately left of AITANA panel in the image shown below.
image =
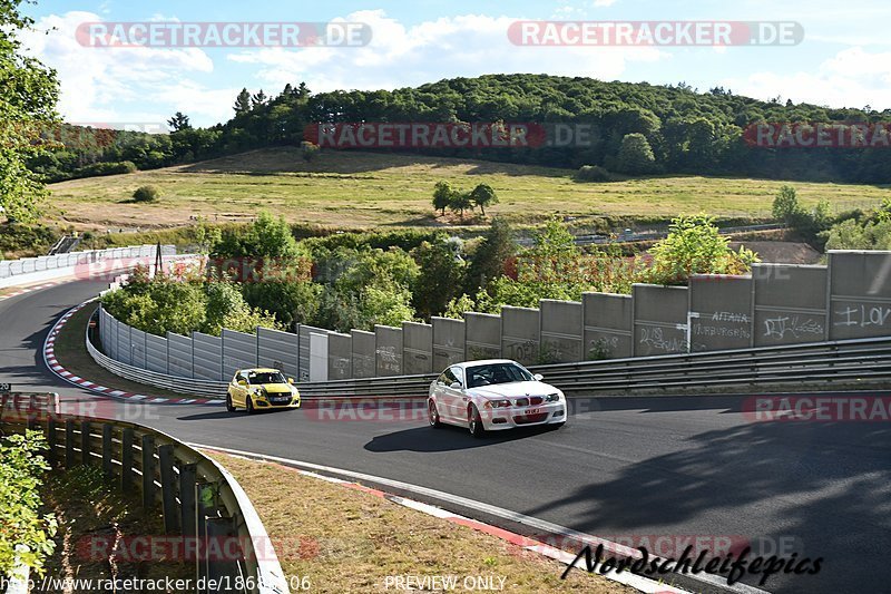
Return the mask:
<path fill-rule="evenodd" d="M 634 357 L 687 351 L 687 288 L 635 284 Z"/>

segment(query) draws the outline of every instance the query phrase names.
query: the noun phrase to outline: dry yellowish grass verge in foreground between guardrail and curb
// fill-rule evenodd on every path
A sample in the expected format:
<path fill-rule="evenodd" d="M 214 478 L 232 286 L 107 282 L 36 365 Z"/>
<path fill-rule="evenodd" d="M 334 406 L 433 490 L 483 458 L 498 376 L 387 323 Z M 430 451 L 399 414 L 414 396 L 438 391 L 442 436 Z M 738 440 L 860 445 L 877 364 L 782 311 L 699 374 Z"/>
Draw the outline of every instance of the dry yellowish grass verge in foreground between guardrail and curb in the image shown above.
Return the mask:
<path fill-rule="evenodd" d="M 636 592 L 584 569 L 560 580 L 556 561 L 293 468 L 205 454 L 247 491 L 285 575 L 309 577 L 313 592 L 384 591 L 388 575 L 506 577 L 505 592 Z"/>

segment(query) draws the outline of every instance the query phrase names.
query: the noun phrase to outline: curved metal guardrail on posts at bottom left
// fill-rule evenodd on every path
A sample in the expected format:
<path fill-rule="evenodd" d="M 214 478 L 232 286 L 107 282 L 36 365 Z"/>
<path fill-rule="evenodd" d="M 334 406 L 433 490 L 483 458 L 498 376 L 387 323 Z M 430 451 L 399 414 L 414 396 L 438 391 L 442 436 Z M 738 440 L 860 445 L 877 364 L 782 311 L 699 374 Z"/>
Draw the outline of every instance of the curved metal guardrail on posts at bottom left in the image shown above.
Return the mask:
<path fill-rule="evenodd" d="M 123 491 L 139 491 L 143 507 L 160 507 L 164 529 L 183 536 L 196 554 L 204 592 L 287 594 L 284 572 L 263 523 L 238 481 L 221 465 L 182 441 L 131 422 L 59 415 L 40 408 L 3 408 L 0 429 L 42 429 L 49 464 L 70 469 L 101 466 Z M 228 553 L 233 553 L 229 555 Z M 202 580 L 204 578 L 204 580 Z M 213 581 L 213 582 L 212 582 Z M 241 584 L 243 587 L 236 587 Z"/>

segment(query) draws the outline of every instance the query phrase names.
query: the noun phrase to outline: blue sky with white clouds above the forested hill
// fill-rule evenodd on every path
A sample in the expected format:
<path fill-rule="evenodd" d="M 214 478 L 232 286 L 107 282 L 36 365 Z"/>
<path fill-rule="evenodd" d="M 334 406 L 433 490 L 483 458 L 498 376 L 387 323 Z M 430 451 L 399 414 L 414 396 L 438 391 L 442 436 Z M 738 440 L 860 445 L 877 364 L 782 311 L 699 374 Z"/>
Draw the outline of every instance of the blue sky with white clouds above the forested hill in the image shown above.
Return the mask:
<path fill-rule="evenodd" d="M 165 128 L 225 121 L 237 92 L 394 89 L 443 78 L 532 72 L 601 80 L 721 86 L 758 99 L 891 108 L 891 2 L 884 0 L 232 1 L 39 0 L 27 51 L 58 71 L 67 121 Z M 523 47 L 518 20 L 795 21 L 794 46 Z M 359 22 L 364 47 L 89 47 L 85 22 Z M 80 29 L 84 30 L 82 28 Z M 109 28 L 110 30 L 110 28 Z M 79 39 L 81 41 L 79 41 Z"/>

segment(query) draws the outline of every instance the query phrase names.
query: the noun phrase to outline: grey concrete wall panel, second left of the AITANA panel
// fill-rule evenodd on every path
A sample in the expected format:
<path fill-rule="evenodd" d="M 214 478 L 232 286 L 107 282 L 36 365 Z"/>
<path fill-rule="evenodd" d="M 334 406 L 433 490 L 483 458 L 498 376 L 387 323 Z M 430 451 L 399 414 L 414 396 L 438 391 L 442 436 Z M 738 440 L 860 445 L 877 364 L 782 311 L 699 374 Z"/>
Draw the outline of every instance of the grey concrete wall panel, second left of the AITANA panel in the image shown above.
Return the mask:
<path fill-rule="evenodd" d="M 631 357 L 631 295 L 581 295 L 585 359 Z"/>

